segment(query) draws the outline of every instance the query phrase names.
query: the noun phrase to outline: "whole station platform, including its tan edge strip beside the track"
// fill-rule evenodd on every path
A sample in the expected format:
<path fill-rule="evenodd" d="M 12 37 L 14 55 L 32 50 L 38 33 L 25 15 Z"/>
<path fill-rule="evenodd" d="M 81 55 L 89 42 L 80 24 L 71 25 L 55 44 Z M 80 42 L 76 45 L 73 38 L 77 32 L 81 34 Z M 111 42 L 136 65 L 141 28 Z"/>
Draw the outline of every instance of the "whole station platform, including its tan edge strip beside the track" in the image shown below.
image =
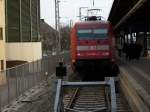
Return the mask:
<path fill-rule="evenodd" d="M 120 85 L 128 98 L 132 110 L 150 111 L 150 58 L 126 60 L 117 58 L 120 67 Z"/>

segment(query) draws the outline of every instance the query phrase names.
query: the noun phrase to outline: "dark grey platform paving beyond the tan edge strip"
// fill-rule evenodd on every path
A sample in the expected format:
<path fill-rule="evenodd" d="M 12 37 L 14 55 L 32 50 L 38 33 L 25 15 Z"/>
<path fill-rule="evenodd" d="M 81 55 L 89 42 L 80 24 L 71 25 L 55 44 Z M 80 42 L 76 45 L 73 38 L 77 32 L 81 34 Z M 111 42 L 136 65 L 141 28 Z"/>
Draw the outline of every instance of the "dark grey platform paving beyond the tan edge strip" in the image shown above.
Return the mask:
<path fill-rule="evenodd" d="M 129 75 L 150 95 L 150 57 L 128 61 L 119 58 L 119 66 L 128 71 Z"/>

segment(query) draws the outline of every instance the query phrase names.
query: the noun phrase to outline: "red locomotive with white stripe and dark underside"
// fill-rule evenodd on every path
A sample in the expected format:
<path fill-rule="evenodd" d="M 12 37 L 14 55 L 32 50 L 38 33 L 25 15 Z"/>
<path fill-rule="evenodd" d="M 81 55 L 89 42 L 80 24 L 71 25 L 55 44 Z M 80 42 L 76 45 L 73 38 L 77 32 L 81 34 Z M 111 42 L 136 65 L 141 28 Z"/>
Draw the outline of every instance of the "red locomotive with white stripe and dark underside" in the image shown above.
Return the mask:
<path fill-rule="evenodd" d="M 108 21 L 82 21 L 71 31 L 71 61 L 78 72 L 98 71 L 100 77 L 115 76 L 115 37 Z"/>

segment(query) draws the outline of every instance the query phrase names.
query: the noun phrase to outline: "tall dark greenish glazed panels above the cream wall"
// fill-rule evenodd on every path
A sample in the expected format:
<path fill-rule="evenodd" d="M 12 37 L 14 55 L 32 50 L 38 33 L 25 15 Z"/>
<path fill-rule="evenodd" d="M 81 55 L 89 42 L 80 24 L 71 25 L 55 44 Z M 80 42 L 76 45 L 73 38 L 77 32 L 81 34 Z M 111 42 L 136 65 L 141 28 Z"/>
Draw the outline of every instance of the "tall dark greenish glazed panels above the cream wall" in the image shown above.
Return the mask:
<path fill-rule="evenodd" d="M 39 0 L 7 0 L 6 15 L 7 42 L 39 41 Z"/>

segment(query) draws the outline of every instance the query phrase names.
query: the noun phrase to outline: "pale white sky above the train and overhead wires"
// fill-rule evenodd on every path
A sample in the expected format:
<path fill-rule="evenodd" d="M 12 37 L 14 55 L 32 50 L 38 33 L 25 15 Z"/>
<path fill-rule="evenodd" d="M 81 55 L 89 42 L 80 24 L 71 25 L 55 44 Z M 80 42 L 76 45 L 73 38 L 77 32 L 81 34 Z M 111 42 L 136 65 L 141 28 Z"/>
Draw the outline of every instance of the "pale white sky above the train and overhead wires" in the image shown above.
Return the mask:
<path fill-rule="evenodd" d="M 41 0 L 41 18 L 55 28 L 55 0 Z M 108 18 L 113 0 L 94 0 L 94 7 L 102 9 L 101 16 Z M 93 0 L 60 0 L 60 22 L 79 21 L 79 8 L 93 6 Z M 84 10 L 82 10 L 84 12 Z"/>

